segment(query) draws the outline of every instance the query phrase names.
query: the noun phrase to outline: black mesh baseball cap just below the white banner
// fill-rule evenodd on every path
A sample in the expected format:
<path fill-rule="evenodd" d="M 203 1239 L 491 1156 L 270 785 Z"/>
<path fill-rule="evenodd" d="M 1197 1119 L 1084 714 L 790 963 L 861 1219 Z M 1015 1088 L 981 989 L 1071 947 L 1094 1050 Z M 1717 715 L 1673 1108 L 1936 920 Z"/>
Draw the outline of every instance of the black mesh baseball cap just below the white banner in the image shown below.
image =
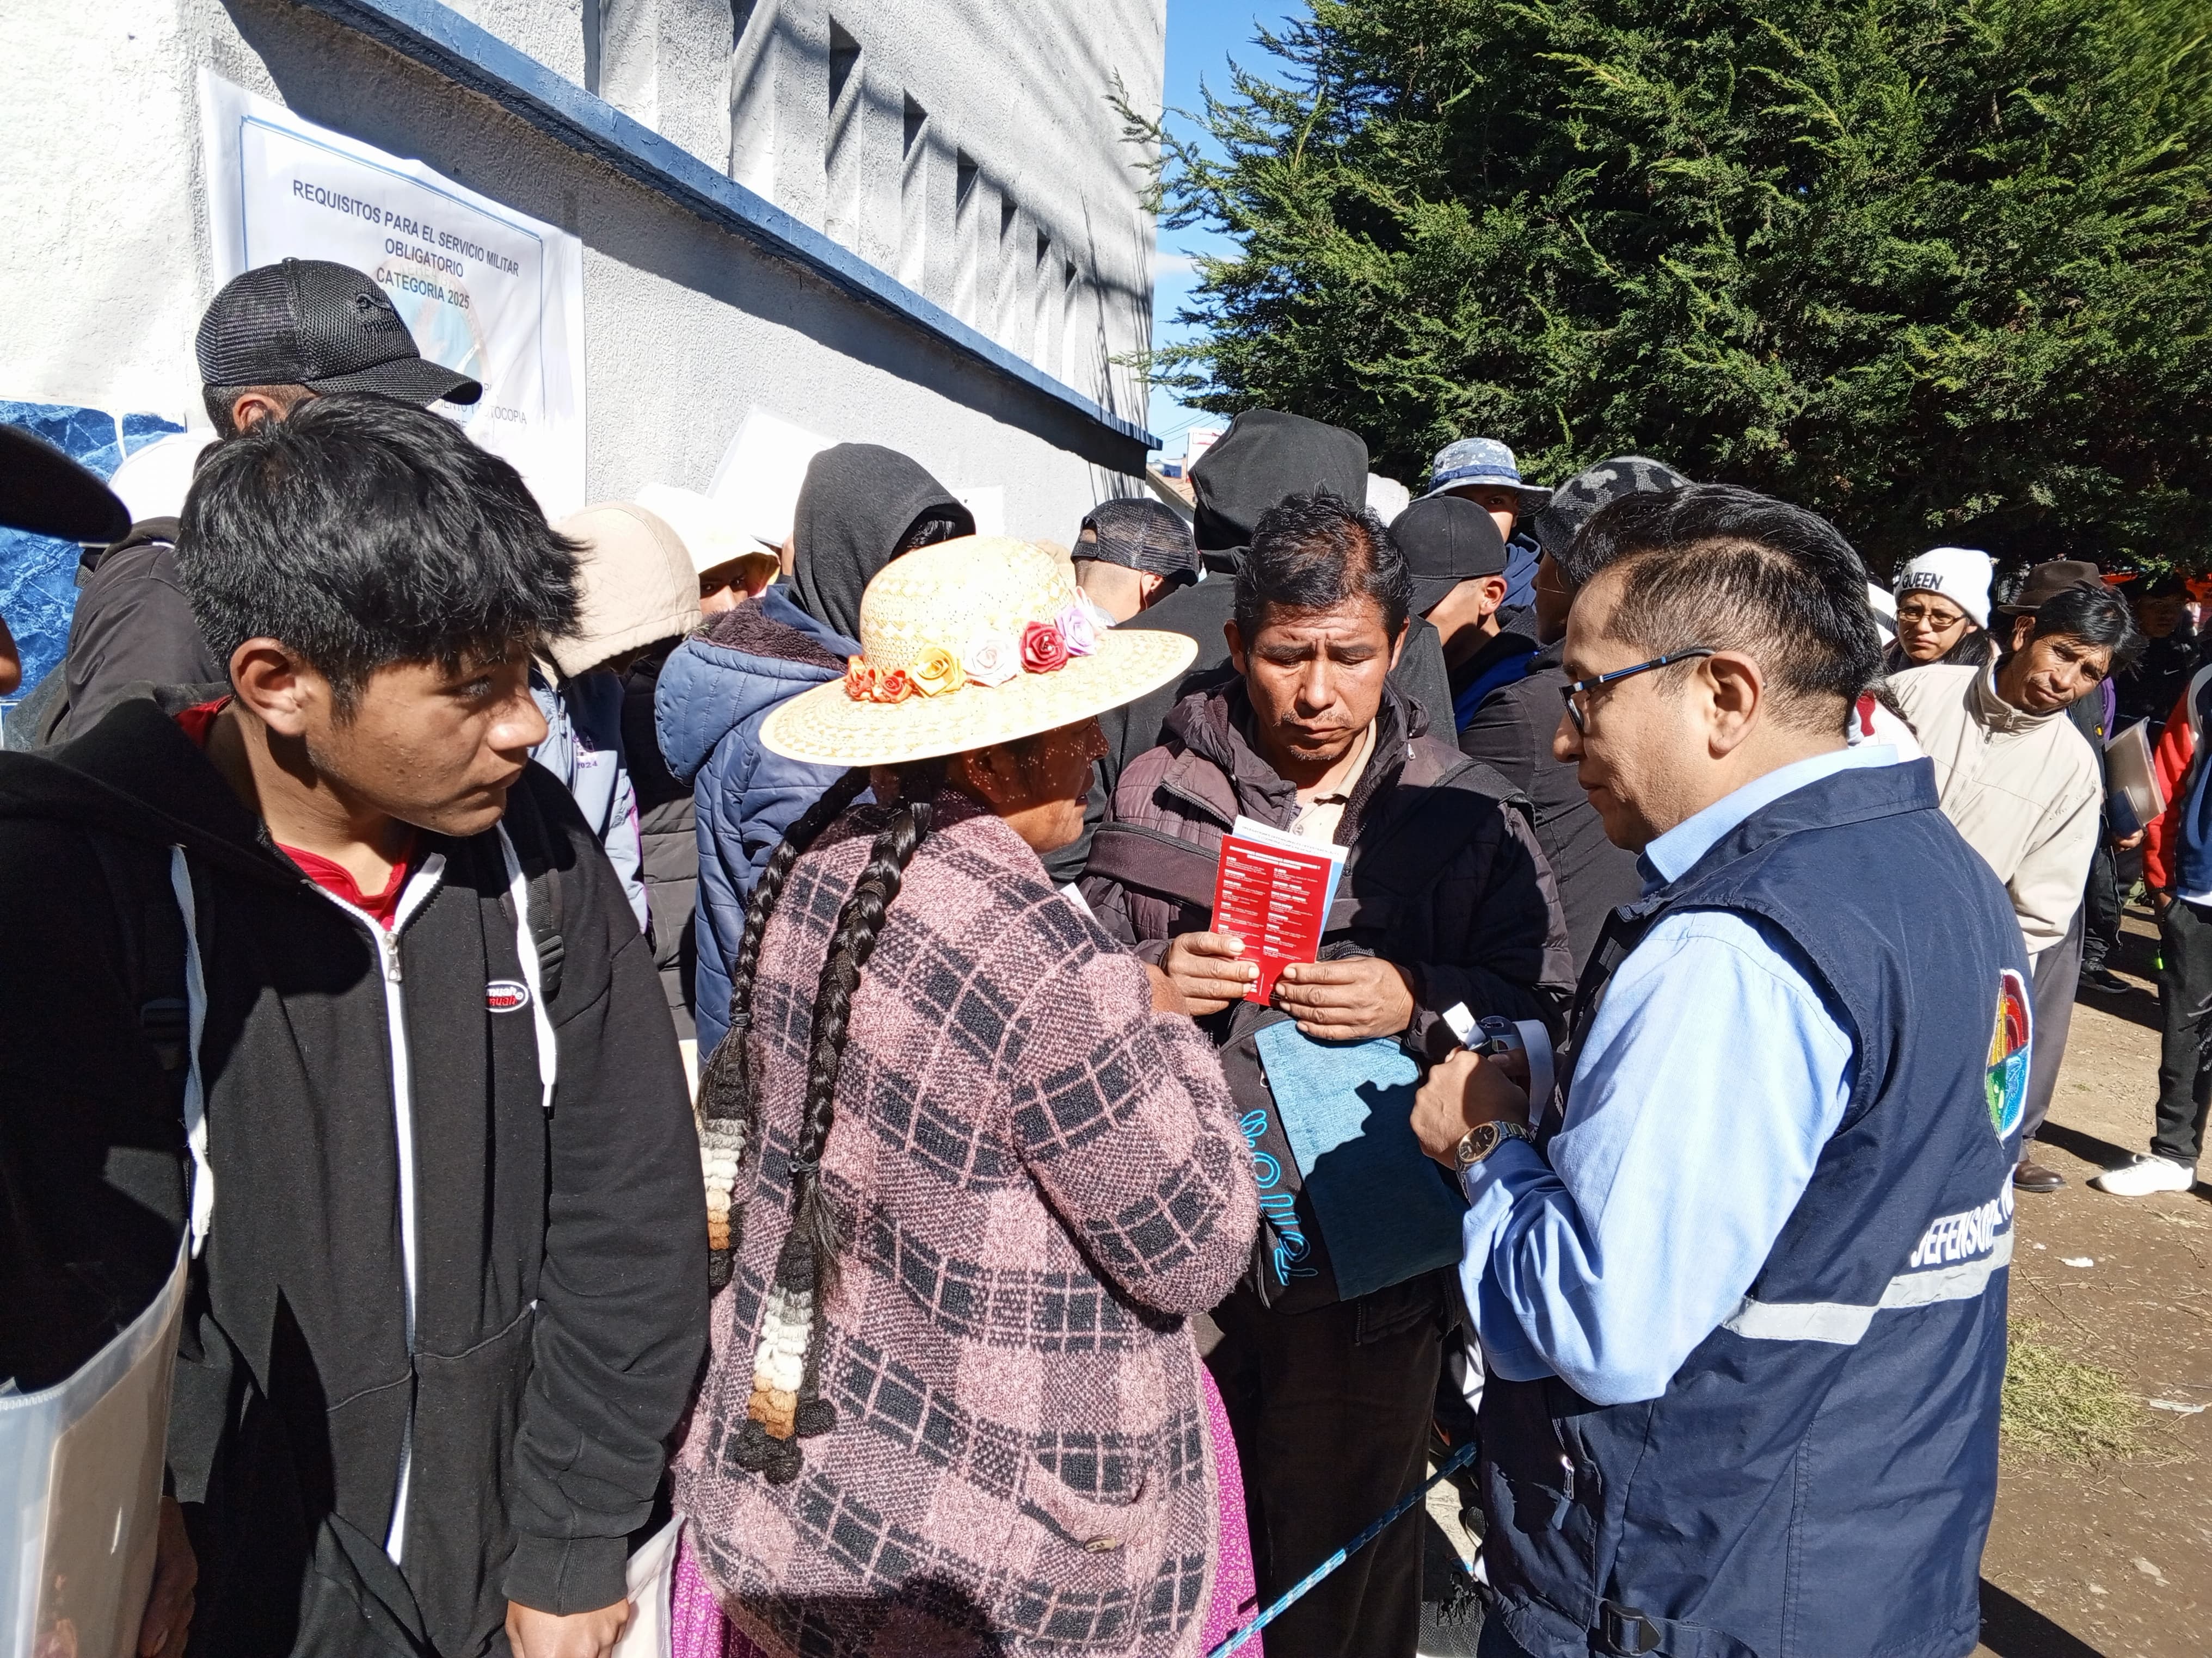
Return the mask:
<path fill-rule="evenodd" d="M 476 402 L 484 387 L 427 360 L 389 294 L 352 265 L 285 259 L 223 283 L 199 318 L 201 385 L 303 385 L 400 402 Z"/>

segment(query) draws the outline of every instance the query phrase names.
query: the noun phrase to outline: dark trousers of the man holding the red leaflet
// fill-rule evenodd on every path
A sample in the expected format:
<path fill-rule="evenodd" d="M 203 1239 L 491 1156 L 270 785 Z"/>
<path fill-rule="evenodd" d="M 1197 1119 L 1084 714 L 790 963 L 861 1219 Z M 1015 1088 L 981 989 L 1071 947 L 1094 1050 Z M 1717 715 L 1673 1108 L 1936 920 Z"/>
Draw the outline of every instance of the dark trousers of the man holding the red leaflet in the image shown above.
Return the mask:
<path fill-rule="evenodd" d="M 1449 1291 L 1438 1271 L 1307 1313 L 1248 1289 L 1214 1309 L 1206 1364 L 1243 1463 L 1261 1605 L 1420 1486 Z M 1420 1523 L 1416 1508 L 1267 1625 L 1272 1658 L 1413 1658 Z"/>

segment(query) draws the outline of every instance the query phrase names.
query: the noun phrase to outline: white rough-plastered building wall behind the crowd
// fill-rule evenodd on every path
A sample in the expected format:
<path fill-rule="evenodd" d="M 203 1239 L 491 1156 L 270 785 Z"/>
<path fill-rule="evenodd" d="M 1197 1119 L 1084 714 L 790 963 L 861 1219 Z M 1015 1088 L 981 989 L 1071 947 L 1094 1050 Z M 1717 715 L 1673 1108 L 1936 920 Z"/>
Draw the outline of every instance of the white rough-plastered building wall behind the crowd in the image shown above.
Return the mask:
<path fill-rule="evenodd" d="M 1128 420 L 1152 225 L 1108 93 L 1157 108 L 1161 0 L 462 0 L 453 7 Z M 832 40 L 845 88 L 830 102 Z M 852 60 L 852 46 L 858 60 Z M 588 491 L 703 489 L 748 405 L 1000 484 L 1071 539 L 1137 440 L 708 225 L 290 0 L 0 7 L 0 398 L 197 411 L 197 69 L 584 241 Z M 964 186 L 964 190 L 962 190 Z M 1040 259 L 1040 248 L 1044 256 Z"/>

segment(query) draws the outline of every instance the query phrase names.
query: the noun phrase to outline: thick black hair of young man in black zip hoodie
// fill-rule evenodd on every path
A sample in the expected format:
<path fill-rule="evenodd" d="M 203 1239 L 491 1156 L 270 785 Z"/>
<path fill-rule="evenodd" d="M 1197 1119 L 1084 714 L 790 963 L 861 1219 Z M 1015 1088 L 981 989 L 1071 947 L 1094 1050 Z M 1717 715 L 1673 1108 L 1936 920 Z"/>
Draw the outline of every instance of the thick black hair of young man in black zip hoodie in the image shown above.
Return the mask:
<path fill-rule="evenodd" d="M 378 668 L 451 670 L 564 634 L 580 550 L 522 475 L 445 416 L 327 396 L 206 453 L 177 575 L 219 663 L 276 639 L 343 714 Z"/>

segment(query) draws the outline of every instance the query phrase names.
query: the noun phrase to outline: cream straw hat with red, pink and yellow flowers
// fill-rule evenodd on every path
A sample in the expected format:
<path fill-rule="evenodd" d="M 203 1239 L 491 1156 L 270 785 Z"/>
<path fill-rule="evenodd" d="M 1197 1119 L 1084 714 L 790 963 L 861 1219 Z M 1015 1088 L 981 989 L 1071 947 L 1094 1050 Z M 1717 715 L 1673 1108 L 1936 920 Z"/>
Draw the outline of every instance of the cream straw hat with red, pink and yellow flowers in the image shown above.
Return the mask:
<path fill-rule="evenodd" d="M 1066 562 L 1044 548 L 964 535 L 867 584 L 845 679 L 783 703 L 761 743 L 823 765 L 929 760 L 1104 714 L 1197 654 L 1183 634 L 1095 626 Z"/>

